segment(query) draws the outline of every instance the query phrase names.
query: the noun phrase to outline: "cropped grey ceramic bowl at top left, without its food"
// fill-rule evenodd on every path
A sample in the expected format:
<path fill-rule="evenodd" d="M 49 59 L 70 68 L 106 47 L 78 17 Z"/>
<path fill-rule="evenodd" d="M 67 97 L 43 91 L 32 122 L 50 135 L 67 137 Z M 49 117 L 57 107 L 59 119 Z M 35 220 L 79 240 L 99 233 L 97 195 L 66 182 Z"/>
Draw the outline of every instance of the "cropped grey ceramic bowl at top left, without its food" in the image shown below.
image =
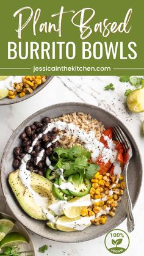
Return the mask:
<path fill-rule="evenodd" d="M 41 84 L 41 86 L 38 86 L 34 92 L 32 92 L 31 94 L 27 93 L 24 97 L 20 98 L 18 95 L 16 95 L 16 97 L 12 100 L 10 100 L 9 98 L 3 98 L 2 100 L 0 100 L 0 105 L 9 105 L 9 104 L 14 104 L 14 103 L 18 103 L 20 101 L 26 100 L 27 98 L 30 98 L 32 96 L 34 96 L 37 92 L 40 92 L 41 89 L 43 89 L 53 78 L 54 76 L 47 76 L 46 78 L 46 82 L 44 82 L 43 84 Z"/>

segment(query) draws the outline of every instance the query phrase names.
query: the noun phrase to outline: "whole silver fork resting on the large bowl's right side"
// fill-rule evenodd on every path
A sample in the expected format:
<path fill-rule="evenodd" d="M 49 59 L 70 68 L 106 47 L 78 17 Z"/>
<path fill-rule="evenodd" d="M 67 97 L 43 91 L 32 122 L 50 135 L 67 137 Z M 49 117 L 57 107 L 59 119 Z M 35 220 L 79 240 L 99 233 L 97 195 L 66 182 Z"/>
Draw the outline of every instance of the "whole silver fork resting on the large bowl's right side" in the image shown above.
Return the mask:
<path fill-rule="evenodd" d="M 123 145 L 123 149 L 126 153 L 129 155 L 129 159 L 127 163 L 124 164 L 123 172 L 124 172 L 124 177 L 125 177 L 125 183 L 126 183 L 126 205 L 127 205 L 127 227 L 128 227 L 128 232 L 132 232 L 134 230 L 134 217 L 132 215 L 132 202 L 131 202 L 131 197 L 129 196 L 129 188 L 128 188 L 128 165 L 129 165 L 129 160 L 132 158 L 132 148 L 131 144 L 128 141 L 128 138 L 124 134 L 123 130 L 120 128 L 119 125 L 116 125 L 115 127 L 112 128 L 113 133 L 115 135 L 115 138 L 117 141 Z"/>

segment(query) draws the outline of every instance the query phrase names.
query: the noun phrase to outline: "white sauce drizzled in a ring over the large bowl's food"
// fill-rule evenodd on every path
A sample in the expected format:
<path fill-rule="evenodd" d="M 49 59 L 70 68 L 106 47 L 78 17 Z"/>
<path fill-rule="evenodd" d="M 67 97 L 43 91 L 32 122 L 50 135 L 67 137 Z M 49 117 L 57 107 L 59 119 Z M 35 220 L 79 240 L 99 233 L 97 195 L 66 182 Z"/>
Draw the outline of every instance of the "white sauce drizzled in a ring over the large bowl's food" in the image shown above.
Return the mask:
<path fill-rule="evenodd" d="M 48 126 L 46 130 L 39 134 L 38 137 L 35 138 L 35 140 L 32 142 L 32 146 L 29 148 L 29 153 L 32 152 L 34 145 L 37 143 L 38 139 L 40 139 L 43 134 L 48 133 L 48 131 L 52 131 L 52 129 L 56 127 L 59 130 L 66 130 L 67 132 L 65 134 L 67 135 L 73 135 L 81 142 L 84 143 L 84 147 L 92 152 L 92 161 L 95 162 L 96 158 L 98 158 L 99 155 L 103 156 L 102 161 L 104 163 L 107 163 L 107 161 L 110 161 L 114 165 L 114 174 L 117 175 L 117 181 L 115 184 L 112 185 L 112 188 L 114 188 L 119 180 L 120 174 L 121 174 L 121 167 L 120 163 L 117 162 L 117 150 L 115 150 L 115 144 L 113 143 L 112 139 L 109 139 L 109 137 L 104 136 L 104 140 L 107 141 L 108 148 L 104 147 L 104 144 L 99 142 L 96 137 L 94 131 L 90 131 L 90 133 L 85 133 L 84 130 L 80 130 L 77 126 L 75 126 L 73 123 L 66 123 L 66 122 L 52 122 L 48 123 Z M 60 136 L 57 136 L 54 141 L 50 142 L 47 147 L 50 147 L 52 143 L 58 141 L 60 139 Z M 41 161 L 41 158 L 43 157 L 45 150 L 41 150 L 40 154 L 37 156 L 37 163 Z M 43 207 L 43 213 L 46 214 L 46 218 L 49 219 L 51 222 L 56 222 L 54 216 L 49 213 L 48 210 L 46 210 L 46 198 L 40 197 L 32 188 L 31 188 L 31 172 L 26 169 L 26 163 L 31 159 L 31 155 L 27 154 L 24 156 L 24 158 L 21 161 L 21 166 L 20 166 L 20 173 L 19 177 L 21 179 L 21 182 L 23 183 L 26 188 L 29 189 L 29 191 L 32 194 L 32 197 L 34 198 L 35 202 L 37 205 Z M 51 161 L 49 160 L 48 156 L 46 157 L 46 165 L 49 167 L 49 169 L 54 170 L 54 167 L 51 166 Z M 64 181 L 63 178 L 63 169 L 57 169 L 57 173 L 60 175 L 62 180 Z M 63 182 L 61 185 L 56 185 L 54 184 L 57 188 L 62 188 L 62 189 L 69 189 L 71 191 L 76 191 L 74 186 L 71 183 L 65 183 Z M 109 191 L 109 196 L 113 194 L 113 191 Z M 63 214 L 63 210 L 68 207 L 80 207 L 80 206 L 89 206 L 92 205 L 95 202 L 100 202 L 100 201 L 106 201 L 107 196 L 103 197 L 103 199 L 92 199 L 88 201 L 81 202 L 80 200 L 77 200 L 77 202 L 73 203 L 68 203 L 67 200 L 59 200 L 57 203 L 53 203 L 52 205 L 49 205 L 49 210 L 52 210 L 57 216 L 60 216 Z M 101 210 L 98 214 L 96 214 L 96 218 L 103 214 L 109 213 L 110 207 L 107 207 L 106 210 Z M 91 216 L 90 218 L 87 217 L 82 217 L 78 221 L 75 222 L 66 222 L 65 227 L 71 227 L 76 230 L 83 230 L 86 225 L 90 224 L 90 220 L 95 218 L 95 216 Z M 58 220 L 59 222 L 59 220 Z M 57 222 L 56 222 L 57 223 Z"/>

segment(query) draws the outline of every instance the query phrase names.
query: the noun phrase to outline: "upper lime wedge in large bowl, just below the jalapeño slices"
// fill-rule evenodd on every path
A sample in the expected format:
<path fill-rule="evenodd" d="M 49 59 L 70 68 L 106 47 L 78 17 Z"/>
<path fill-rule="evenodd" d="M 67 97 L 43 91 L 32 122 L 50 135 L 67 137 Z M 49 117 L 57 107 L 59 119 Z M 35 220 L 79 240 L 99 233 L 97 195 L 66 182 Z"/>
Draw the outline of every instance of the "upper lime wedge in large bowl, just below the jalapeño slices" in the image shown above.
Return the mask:
<path fill-rule="evenodd" d="M 70 201 L 68 201 L 68 203 L 71 203 L 71 205 L 76 205 L 76 206 L 71 206 L 70 204 L 68 205 L 69 207 L 68 208 L 65 208 L 63 210 L 63 213 L 65 214 L 65 216 L 67 216 L 68 218 L 76 218 L 78 216 L 81 215 L 81 211 L 82 211 L 82 206 L 79 206 L 81 205 L 81 203 L 85 203 L 85 206 L 88 206 L 87 205 L 87 202 L 90 201 L 90 194 L 87 194 L 86 196 L 84 197 L 74 197 L 73 199 L 71 199 Z"/>

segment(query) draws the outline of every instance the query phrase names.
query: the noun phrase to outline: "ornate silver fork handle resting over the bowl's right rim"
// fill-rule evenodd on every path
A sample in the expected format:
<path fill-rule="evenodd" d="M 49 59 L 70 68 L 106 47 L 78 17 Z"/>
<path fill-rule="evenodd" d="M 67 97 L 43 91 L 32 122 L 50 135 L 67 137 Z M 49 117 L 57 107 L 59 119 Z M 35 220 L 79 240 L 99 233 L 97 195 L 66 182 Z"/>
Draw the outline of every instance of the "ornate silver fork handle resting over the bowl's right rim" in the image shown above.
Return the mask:
<path fill-rule="evenodd" d="M 128 177 L 127 177 L 127 170 L 128 170 L 128 164 L 125 166 L 125 182 L 126 182 L 126 205 L 127 205 L 127 227 L 128 232 L 131 233 L 132 230 L 134 230 L 134 216 L 132 214 L 132 202 L 131 197 L 129 195 L 129 188 L 128 188 Z"/>

